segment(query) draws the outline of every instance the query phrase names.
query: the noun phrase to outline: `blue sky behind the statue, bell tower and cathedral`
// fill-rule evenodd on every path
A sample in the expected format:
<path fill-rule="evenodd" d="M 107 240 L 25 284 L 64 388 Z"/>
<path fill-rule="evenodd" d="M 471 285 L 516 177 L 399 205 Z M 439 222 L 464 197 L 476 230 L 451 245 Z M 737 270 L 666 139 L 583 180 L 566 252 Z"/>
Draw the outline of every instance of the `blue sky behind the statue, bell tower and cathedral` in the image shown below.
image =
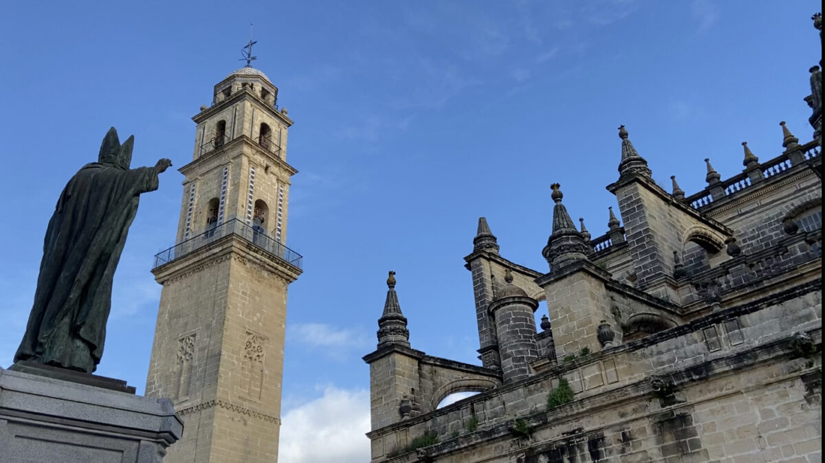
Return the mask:
<path fill-rule="evenodd" d="M 25 328 L 45 226 L 60 190 L 97 159 L 111 125 L 134 133 L 133 166 L 191 159 L 191 116 L 243 65 L 290 110 L 290 287 L 282 461 L 314 461 L 302 426 L 358 423 L 340 461 L 363 461 L 369 369 L 386 272 L 413 348 L 477 362 L 464 255 L 488 217 L 507 259 L 544 271 L 560 182 L 574 217 L 606 232 L 625 124 L 667 189 L 705 186 L 710 157 L 766 161 L 780 120 L 811 138 L 808 68 L 818 2 L 12 2 L 0 16 L 0 365 Z M 146 194 L 115 276 L 98 369 L 144 388 L 182 175 Z M 540 312 L 546 312 L 540 306 Z M 308 368 L 308 365 L 313 367 Z M 357 416 L 356 416 L 357 415 Z M 289 428 L 290 430 L 287 430 Z M 363 428 L 363 429 L 362 429 Z M 339 431 L 344 432 L 344 431 Z M 288 448 L 287 448 L 288 447 Z M 303 453 L 302 453 L 303 452 Z"/>

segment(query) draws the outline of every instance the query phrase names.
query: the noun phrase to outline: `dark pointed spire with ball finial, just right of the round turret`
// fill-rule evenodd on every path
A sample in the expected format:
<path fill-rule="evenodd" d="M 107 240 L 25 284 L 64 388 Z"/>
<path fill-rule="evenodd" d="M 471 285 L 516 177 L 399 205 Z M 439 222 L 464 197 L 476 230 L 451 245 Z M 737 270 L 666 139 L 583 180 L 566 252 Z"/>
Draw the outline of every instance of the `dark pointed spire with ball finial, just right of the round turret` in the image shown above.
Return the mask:
<path fill-rule="evenodd" d="M 587 259 L 587 254 L 592 251 L 592 248 L 585 243 L 582 234 L 576 229 L 573 224 L 573 219 L 567 212 L 567 208 L 562 204 L 561 185 L 554 183 L 550 185 L 553 193 L 550 198 L 553 199 L 556 205 L 553 207 L 553 233 L 547 240 L 547 246 L 541 251 L 544 259 L 550 264 L 550 269 L 554 269 L 571 260 Z"/>

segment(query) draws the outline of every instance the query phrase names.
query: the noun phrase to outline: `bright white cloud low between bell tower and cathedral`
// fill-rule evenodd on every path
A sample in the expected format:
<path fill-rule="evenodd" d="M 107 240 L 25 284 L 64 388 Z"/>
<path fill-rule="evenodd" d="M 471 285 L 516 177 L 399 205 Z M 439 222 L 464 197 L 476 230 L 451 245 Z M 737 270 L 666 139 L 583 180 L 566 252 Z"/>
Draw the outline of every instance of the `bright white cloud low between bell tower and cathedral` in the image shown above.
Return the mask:
<path fill-rule="evenodd" d="M 323 396 L 282 417 L 278 461 L 370 461 L 370 393 L 327 386 Z"/>

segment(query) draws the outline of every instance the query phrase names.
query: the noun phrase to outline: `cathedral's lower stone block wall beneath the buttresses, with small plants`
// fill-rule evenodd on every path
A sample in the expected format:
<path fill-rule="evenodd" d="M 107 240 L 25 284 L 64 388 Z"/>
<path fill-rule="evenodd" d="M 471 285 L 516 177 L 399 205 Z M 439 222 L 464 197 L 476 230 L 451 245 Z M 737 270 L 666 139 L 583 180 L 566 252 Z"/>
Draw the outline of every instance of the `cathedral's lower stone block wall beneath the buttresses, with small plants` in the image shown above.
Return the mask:
<path fill-rule="evenodd" d="M 537 361 L 525 381 L 374 428 L 372 461 L 818 461 L 822 358 L 799 353 L 793 334 L 821 348 L 814 283 L 586 358 Z M 574 400 L 547 409 L 559 376 Z M 439 443 L 403 451 L 431 431 Z"/>

